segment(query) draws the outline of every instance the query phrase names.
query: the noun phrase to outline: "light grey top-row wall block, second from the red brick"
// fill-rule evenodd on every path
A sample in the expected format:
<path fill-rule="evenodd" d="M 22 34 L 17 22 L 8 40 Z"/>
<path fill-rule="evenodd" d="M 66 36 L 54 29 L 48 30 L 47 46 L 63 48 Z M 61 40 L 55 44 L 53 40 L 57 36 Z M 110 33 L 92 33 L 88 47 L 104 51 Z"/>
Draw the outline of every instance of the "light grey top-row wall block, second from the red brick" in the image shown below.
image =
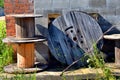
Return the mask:
<path fill-rule="evenodd" d="M 69 8 L 69 0 L 52 0 L 52 7 L 55 8 Z"/>

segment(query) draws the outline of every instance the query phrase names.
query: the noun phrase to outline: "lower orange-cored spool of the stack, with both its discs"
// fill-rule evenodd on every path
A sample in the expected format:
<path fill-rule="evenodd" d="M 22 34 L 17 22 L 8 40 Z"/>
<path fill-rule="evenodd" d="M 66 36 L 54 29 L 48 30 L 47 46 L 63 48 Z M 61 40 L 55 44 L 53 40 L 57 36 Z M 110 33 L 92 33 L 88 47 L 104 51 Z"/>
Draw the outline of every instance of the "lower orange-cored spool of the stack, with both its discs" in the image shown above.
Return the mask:
<path fill-rule="evenodd" d="M 10 64 L 4 67 L 5 72 L 8 73 L 31 73 L 42 71 L 47 68 L 47 65 L 36 65 L 34 45 L 35 42 L 43 42 L 45 39 L 37 38 L 15 38 L 8 37 L 3 39 L 5 43 L 12 43 L 17 45 L 17 64 Z"/>

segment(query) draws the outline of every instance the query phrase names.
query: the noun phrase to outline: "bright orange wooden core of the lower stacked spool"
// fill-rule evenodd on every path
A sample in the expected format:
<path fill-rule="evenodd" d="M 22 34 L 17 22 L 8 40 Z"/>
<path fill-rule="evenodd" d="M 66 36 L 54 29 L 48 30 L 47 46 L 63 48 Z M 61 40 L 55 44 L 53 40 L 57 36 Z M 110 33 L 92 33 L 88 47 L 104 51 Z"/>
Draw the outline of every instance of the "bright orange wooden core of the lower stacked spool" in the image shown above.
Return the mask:
<path fill-rule="evenodd" d="M 17 66 L 19 68 L 31 68 L 34 66 L 34 43 L 18 44 Z"/>

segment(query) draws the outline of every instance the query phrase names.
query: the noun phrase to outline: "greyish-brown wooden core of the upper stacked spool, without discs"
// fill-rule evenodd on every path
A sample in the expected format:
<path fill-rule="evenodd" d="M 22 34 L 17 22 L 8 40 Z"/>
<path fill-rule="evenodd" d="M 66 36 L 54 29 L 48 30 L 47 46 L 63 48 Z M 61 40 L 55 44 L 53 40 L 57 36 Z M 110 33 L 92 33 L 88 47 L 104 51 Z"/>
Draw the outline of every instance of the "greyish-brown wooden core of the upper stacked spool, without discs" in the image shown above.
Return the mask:
<path fill-rule="evenodd" d="M 16 18 L 16 37 L 30 38 L 35 36 L 34 18 Z"/>

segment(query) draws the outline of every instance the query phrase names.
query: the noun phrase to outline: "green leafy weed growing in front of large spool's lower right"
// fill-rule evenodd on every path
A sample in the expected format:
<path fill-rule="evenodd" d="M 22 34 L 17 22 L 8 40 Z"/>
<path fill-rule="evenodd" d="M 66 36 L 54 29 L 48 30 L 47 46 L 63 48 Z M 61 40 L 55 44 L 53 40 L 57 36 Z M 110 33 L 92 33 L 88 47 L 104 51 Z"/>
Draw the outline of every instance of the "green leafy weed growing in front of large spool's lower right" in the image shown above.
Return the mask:
<path fill-rule="evenodd" d="M 93 54 L 88 55 L 88 57 L 88 67 L 100 68 L 103 71 L 103 77 L 97 80 L 116 80 L 115 76 L 111 73 L 111 69 L 105 65 L 103 53 L 97 49 L 96 44 L 94 44 Z"/>

